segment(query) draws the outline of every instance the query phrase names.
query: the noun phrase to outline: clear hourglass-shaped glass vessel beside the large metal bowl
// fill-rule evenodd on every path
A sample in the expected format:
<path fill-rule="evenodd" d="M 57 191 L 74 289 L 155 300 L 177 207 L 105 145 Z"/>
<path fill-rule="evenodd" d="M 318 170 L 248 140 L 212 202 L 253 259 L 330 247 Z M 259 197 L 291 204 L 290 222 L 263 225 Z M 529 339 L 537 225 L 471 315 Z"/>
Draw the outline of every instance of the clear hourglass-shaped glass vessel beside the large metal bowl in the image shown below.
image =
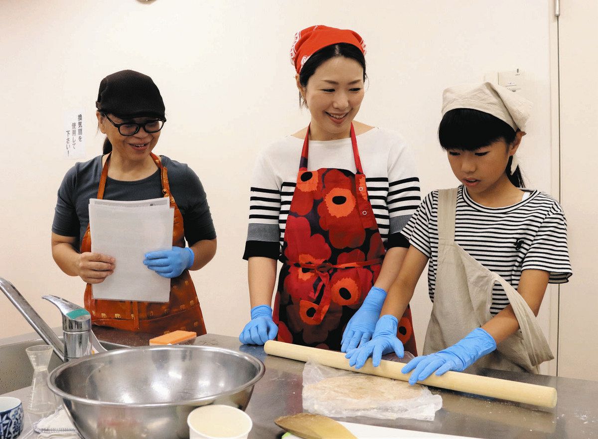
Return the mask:
<path fill-rule="evenodd" d="M 40 416 L 53 413 L 58 406 L 56 395 L 48 388 L 48 365 L 52 350 L 52 346 L 48 345 L 30 346 L 25 349 L 33 366 L 33 381 L 26 410 Z"/>

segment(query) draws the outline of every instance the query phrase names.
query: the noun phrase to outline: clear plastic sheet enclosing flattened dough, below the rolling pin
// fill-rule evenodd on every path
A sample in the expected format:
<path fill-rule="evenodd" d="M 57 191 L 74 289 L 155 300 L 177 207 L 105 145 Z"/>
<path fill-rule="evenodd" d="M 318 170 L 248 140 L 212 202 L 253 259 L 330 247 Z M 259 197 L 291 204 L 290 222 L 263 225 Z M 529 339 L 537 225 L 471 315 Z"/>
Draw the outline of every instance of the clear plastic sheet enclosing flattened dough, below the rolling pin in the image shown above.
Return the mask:
<path fill-rule="evenodd" d="M 321 383 L 325 379 L 328 381 Z M 331 417 L 434 420 L 443 406 L 441 396 L 432 395 L 426 386 L 401 389 L 404 385 L 407 383 L 308 361 L 303 369 L 303 410 Z"/>

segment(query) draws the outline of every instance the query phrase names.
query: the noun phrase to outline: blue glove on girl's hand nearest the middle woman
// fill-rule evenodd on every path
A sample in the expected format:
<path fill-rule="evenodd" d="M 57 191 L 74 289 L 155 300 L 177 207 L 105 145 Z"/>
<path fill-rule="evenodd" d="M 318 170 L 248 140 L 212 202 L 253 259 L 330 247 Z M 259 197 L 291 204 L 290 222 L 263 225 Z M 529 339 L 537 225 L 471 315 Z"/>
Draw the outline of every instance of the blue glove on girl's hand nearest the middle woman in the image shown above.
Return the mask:
<path fill-rule="evenodd" d="M 401 340 L 396 337 L 396 328 L 398 326 L 399 321 L 395 316 L 386 314 L 380 317 L 372 339 L 365 343 L 365 345 L 350 350 L 345 355 L 345 358 L 349 358 L 349 365 L 355 366 L 356 369 L 361 369 L 365 361 L 371 356 L 374 367 L 378 367 L 382 355 L 393 351 L 396 353 L 396 356 L 403 358 L 405 349 Z"/>

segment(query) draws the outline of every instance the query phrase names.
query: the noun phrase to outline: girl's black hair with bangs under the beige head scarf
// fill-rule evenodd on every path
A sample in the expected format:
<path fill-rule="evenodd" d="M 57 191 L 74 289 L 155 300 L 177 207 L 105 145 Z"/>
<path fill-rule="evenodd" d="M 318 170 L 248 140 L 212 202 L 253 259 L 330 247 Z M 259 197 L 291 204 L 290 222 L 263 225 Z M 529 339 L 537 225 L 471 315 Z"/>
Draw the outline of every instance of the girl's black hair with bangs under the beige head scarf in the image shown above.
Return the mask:
<path fill-rule="evenodd" d="M 515 141 L 515 130 L 498 117 L 472 108 L 456 108 L 447 111 L 438 127 L 438 140 L 443 150 L 474 151 L 492 142 L 504 140 L 507 145 Z M 511 173 L 507 163 L 507 177 L 515 187 L 525 187 L 521 169 Z"/>

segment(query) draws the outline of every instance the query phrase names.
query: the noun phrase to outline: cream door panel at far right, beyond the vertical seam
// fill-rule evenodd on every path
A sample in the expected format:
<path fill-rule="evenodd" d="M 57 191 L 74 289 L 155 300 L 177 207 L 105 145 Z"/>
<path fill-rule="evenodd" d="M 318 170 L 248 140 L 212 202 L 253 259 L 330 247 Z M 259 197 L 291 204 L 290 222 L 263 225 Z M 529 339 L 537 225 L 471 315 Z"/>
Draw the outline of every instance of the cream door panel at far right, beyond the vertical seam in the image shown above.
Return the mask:
<path fill-rule="evenodd" d="M 557 373 L 598 380 L 598 2 L 560 3 L 560 200 L 573 276 L 560 287 Z"/>

